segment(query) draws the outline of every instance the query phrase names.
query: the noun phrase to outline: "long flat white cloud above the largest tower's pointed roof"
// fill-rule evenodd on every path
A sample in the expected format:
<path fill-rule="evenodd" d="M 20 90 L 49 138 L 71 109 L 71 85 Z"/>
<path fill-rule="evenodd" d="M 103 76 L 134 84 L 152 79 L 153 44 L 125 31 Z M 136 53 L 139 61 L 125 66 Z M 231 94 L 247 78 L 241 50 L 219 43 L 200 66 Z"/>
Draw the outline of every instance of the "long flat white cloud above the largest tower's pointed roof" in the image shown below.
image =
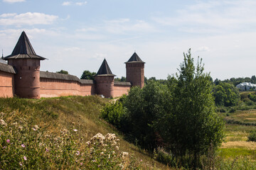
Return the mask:
<path fill-rule="evenodd" d="M 0 25 L 32 26 L 36 24 L 51 24 L 57 19 L 58 16 L 47 15 L 45 13 L 4 13 L 0 16 Z"/>

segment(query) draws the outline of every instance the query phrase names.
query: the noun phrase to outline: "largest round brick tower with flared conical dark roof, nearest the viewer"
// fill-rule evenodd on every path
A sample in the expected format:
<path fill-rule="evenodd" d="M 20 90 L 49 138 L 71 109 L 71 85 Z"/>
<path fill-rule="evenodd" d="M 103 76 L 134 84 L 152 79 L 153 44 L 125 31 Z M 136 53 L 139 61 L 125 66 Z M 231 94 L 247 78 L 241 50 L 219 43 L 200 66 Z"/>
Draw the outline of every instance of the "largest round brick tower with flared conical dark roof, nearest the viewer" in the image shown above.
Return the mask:
<path fill-rule="evenodd" d="M 21 98 L 40 98 L 40 60 L 46 58 L 36 55 L 26 33 L 23 31 L 14 51 L 4 57 L 16 69 L 14 91 Z"/>

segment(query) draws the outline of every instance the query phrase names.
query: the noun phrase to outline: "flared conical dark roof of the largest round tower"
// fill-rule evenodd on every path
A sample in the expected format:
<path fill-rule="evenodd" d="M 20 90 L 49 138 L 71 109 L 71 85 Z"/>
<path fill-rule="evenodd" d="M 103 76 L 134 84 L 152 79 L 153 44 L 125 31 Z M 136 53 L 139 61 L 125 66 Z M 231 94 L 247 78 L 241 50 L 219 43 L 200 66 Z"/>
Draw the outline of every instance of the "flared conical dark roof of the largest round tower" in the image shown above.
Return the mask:
<path fill-rule="evenodd" d="M 38 59 L 45 60 L 46 58 L 36 55 L 36 52 L 33 50 L 31 42 L 28 40 L 28 36 L 25 31 L 21 33 L 20 38 L 18 38 L 18 42 L 14 47 L 14 51 L 11 55 L 4 57 L 4 60 L 10 59 Z"/>

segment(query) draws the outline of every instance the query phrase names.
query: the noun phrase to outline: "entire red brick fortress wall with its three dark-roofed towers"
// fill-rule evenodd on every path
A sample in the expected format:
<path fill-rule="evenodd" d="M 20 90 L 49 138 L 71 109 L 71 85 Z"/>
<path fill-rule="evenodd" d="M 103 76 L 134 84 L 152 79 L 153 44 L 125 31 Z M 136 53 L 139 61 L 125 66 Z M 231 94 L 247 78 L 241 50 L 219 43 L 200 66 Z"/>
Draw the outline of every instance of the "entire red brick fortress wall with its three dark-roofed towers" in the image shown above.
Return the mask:
<path fill-rule="evenodd" d="M 107 98 L 127 94 L 132 86 L 144 86 L 144 62 L 134 52 L 125 62 L 127 82 L 114 81 L 104 60 L 94 80 L 78 79 L 70 74 L 40 71 L 40 62 L 46 58 L 36 55 L 23 31 L 11 55 L 0 62 L 0 97 L 41 98 L 58 96 L 104 95 Z"/>

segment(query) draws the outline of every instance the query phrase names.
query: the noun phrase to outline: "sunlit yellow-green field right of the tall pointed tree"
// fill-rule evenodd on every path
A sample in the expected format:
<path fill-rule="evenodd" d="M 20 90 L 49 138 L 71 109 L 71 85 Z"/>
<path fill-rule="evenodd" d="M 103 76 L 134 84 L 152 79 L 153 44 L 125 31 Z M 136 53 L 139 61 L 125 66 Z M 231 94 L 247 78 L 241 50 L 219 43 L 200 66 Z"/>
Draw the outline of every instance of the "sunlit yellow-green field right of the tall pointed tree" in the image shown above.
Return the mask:
<path fill-rule="evenodd" d="M 225 118 L 241 123 L 256 123 L 256 110 L 235 111 Z M 228 124 L 225 125 L 225 138 L 219 149 L 219 156 L 224 159 L 250 159 L 256 163 L 256 142 L 248 142 L 247 136 L 256 126 Z"/>

